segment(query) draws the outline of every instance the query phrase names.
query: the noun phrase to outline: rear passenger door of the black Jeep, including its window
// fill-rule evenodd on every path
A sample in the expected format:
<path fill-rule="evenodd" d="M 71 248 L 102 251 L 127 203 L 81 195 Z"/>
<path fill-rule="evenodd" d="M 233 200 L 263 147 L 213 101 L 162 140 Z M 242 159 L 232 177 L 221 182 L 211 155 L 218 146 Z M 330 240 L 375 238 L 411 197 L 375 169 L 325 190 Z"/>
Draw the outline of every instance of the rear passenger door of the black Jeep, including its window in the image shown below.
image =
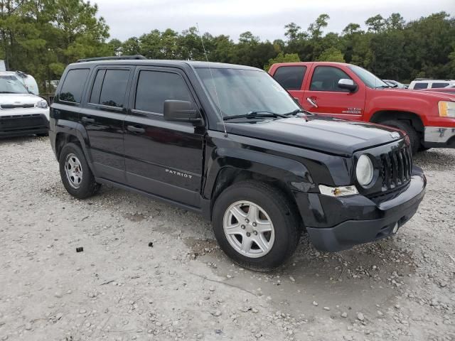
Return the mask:
<path fill-rule="evenodd" d="M 96 67 L 80 112 L 95 174 L 118 183 L 125 183 L 123 120 L 127 116 L 130 76 L 132 67 Z"/>

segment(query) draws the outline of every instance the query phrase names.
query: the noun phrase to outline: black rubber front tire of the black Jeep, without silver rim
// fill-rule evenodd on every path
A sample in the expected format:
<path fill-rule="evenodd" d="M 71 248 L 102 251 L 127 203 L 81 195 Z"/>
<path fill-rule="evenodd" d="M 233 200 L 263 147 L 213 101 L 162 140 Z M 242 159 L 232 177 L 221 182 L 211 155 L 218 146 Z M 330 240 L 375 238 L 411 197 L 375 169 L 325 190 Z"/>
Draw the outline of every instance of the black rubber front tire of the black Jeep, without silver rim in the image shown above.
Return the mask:
<path fill-rule="evenodd" d="M 240 254 L 225 235 L 223 228 L 225 212 L 230 205 L 242 200 L 262 207 L 272 221 L 274 243 L 264 256 L 252 258 Z M 215 202 L 212 218 L 215 237 L 225 254 L 240 266 L 255 271 L 271 271 L 284 264 L 294 254 L 301 235 L 301 224 L 295 205 L 277 188 L 252 180 L 235 183 L 225 189 Z"/>

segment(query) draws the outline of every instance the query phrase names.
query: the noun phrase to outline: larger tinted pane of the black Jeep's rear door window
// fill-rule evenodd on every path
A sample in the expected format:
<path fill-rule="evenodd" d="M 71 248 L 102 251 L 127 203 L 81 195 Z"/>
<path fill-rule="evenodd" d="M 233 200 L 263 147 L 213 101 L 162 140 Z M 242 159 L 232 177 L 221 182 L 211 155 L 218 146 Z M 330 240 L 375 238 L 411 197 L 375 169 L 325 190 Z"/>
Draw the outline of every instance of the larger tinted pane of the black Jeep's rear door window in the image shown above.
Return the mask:
<path fill-rule="evenodd" d="M 106 70 L 102 82 L 100 104 L 110 107 L 123 107 L 127 90 L 129 70 Z"/>

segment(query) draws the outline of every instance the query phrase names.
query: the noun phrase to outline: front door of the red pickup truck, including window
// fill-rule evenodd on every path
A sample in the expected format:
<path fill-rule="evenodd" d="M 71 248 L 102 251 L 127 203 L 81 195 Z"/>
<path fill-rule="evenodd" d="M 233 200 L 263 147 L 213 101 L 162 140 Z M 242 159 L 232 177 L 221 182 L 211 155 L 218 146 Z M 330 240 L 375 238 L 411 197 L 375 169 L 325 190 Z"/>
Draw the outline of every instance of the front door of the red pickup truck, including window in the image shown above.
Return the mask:
<path fill-rule="evenodd" d="M 365 86 L 358 86 L 355 92 L 338 87 L 341 79 L 352 80 L 340 67 L 319 65 L 311 70 L 309 90 L 304 92 L 302 107 L 309 112 L 338 117 L 341 119 L 362 119 L 365 109 Z"/>

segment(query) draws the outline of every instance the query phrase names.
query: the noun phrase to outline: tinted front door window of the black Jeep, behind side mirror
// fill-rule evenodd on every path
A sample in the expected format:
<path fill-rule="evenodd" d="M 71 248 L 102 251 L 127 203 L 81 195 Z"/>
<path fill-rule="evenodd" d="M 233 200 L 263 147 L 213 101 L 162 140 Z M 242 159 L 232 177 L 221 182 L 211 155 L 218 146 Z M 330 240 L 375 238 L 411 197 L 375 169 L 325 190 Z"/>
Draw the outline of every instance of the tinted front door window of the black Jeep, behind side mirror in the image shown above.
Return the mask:
<path fill-rule="evenodd" d="M 164 101 L 190 101 L 191 94 L 183 78 L 170 72 L 141 71 L 137 82 L 135 109 L 163 114 Z"/>

